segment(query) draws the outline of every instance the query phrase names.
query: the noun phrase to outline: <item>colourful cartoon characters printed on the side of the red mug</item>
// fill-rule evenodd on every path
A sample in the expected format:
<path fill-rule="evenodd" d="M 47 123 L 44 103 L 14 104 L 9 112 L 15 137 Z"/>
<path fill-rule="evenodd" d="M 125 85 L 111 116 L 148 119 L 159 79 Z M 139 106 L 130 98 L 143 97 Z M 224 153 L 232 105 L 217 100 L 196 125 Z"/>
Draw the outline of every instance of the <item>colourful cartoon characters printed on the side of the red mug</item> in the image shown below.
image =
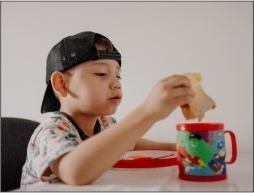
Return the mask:
<path fill-rule="evenodd" d="M 213 135 L 214 136 L 214 135 Z M 213 141 L 214 137 L 209 141 Z M 202 133 L 198 132 L 180 132 L 178 136 L 178 155 L 185 166 L 185 172 L 190 169 L 210 168 L 215 174 L 225 174 L 225 144 L 220 139 L 216 150 L 213 150 L 212 144 L 202 138 Z M 214 152 L 215 151 L 215 152 Z M 207 170 L 206 170 L 207 171 Z M 201 171 L 200 171 L 201 172 Z M 207 171 L 208 172 L 208 171 Z M 199 172 L 198 172 L 199 173 Z M 210 172 L 209 172 L 210 173 Z M 210 173 L 212 174 L 212 173 Z"/>

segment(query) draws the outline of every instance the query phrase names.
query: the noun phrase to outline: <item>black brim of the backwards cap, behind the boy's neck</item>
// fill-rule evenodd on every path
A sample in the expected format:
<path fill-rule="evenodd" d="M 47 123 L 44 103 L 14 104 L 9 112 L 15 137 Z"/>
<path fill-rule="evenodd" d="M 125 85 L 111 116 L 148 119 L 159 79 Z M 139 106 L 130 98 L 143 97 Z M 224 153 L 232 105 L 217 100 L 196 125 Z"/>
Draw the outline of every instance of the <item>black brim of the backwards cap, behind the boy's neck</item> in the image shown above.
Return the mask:
<path fill-rule="evenodd" d="M 41 105 L 41 113 L 54 112 L 60 110 L 60 102 L 55 97 L 51 82 L 48 83 L 42 105 Z"/>

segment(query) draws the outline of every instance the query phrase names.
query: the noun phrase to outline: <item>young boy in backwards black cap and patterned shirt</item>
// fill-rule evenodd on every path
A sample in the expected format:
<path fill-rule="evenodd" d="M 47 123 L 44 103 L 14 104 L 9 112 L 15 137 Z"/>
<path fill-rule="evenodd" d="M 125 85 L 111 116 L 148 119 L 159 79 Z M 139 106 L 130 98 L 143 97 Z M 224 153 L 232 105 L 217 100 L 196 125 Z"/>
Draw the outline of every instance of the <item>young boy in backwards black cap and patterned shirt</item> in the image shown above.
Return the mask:
<path fill-rule="evenodd" d="M 175 143 L 141 137 L 176 107 L 192 101 L 189 79 L 162 79 L 140 106 L 116 123 L 109 115 L 122 99 L 120 74 L 120 53 L 98 33 L 68 36 L 51 49 L 41 112 L 53 114 L 31 136 L 21 186 L 40 180 L 89 184 L 130 149 L 176 149 Z"/>

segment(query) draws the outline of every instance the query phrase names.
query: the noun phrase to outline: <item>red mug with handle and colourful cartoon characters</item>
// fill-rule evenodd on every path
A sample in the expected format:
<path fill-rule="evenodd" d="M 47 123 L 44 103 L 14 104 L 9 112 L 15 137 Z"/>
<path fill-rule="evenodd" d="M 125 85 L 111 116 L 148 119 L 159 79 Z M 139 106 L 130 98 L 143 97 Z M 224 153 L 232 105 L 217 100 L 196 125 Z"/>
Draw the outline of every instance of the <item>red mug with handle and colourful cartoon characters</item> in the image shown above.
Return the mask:
<path fill-rule="evenodd" d="M 179 178 L 189 181 L 217 181 L 227 178 L 226 164 L 236 160 L 236 138 L 223 123 L 177 124 Z M 226 161 L 225 134 L 232 144 L 232 157 Z"/>

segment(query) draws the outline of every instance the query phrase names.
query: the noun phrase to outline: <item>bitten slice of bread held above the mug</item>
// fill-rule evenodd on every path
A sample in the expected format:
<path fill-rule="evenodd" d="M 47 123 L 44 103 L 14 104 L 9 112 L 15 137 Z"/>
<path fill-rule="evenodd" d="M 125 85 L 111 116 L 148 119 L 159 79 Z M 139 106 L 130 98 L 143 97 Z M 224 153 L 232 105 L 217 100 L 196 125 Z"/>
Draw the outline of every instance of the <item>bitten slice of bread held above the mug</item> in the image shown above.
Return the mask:
<path fill-rule="evenodd" d="M 205 112 L 214 109 L 216 104 L 202 89 L 200 84 L 202 76 L 200 73 L 186 73 L 183 75 L 190 79 L 191 87 L 195 93 L 195 97 L 190 104 L 181 106 L 183 115 L 186 120 L 198 118 L 198 121 L 201 121 L 205 116 Z"/>

